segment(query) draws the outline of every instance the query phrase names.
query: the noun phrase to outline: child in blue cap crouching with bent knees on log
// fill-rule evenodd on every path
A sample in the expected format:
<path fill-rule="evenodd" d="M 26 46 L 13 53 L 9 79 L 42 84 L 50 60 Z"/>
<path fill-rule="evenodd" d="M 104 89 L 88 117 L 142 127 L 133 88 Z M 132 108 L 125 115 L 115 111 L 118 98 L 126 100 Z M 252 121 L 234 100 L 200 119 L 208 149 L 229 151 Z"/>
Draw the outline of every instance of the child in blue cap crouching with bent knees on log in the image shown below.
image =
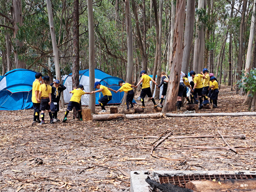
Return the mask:
<path fill-rule="evenodd" d="M 105 87 L 104 85 L 101 85 L 99 81 L 96 81 L 94 84 L 93 89 L 99 89 L 97 91 L 92 91 L 92 93 L 102 92 L 103 97 L 101 97 L 98 102 L 101 107 L 100 112 L 107 112 L 105 106 L 107 105 L 108 101 L 112 100 L 112 93 L 110 91 L 115 92 L 115 90 Z"/>

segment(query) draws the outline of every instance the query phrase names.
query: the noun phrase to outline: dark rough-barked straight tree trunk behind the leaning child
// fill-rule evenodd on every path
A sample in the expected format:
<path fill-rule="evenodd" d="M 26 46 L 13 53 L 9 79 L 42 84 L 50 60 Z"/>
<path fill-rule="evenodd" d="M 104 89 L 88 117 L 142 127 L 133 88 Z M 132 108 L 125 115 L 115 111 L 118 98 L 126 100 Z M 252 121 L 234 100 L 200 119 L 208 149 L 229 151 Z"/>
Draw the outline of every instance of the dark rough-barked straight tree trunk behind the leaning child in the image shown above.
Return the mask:
<path fill-rule="evenodd" d="M 73 10 L 73 66 L 72 66 L 72 87 L 79 85 L 79 0 L 74 0 Z M 80 102 L 81 107 L 81 102 Z M 74 108 L 73 119 L 78 116 Z"/>

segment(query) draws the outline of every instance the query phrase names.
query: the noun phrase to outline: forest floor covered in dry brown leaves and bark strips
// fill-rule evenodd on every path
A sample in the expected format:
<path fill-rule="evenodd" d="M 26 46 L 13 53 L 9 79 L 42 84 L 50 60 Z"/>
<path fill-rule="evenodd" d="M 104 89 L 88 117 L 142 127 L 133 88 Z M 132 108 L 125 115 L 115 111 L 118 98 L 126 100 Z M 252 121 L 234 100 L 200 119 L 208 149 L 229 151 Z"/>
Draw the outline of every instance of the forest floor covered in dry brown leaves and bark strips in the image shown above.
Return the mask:
<path fill-rule="evenodd" d="M 218 108 L 198 111 L 245 112 L 244 96 L 220 89 Z M 146 102 L 145 113 L 153 112 Z M 119 106 L 119 111 L 123 109 Z M 97 108 L 97 110 L 100 110 Z M 59 112 L 62 120 L 64 111 Z M 183 107 L 181 112 L 186 111 Z M 72 114 L 72 113 L 71 113 Z M 161 119 L 81 122 L 71 119 L 32 126 L 33 109 L 0 112 L 0 191 L 130 191 L 129 173 L 134 170 L 254 170 L 256 171 L 255 116 L 165 117 Z M 150 155 L 156 139 L 125 137 L 241 135 L 225 139 L 232 147 L 247 150 L 182 149 L 182 145 L 226 147 L 220 137 L 166 139 Z M 110 138 L 110 139 L 107 139 Z M 148 148 L 138 148 L 148 147 Z M 175 150 L 166 149 L 176 148 Z M 36 164 L 40 157 L 43 164 Z M 131 159 L 137 158 L 137 159 Z M 139 160 L 141 159 L 141 160 Z M 171 160 L 173 159 L 173 160 Z M 178 165 L 187 161 L 185 165 Z"/>

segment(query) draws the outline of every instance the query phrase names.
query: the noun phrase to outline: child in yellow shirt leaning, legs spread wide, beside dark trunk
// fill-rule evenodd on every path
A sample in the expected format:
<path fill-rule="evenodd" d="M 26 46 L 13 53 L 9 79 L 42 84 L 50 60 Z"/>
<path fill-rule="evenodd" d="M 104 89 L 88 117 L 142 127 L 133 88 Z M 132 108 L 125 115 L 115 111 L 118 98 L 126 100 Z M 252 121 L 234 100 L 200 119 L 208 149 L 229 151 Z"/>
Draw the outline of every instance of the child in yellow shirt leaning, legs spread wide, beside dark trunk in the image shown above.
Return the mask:
<path fill-rule="evenodd" d="M 68 108 L 65 112 L 65 117 L 63 118 L 62 122 L 65 123 L 68 119 L 67 119 L 67 116 L 68 116 L 68 113 L 69 111 L 72 111 L 73 108 L 76 108 L 76 111 L 78 112 L 79 114 L 79 118 L 80 118 L 80 121 L 83 120 L 82 118 L 82 111 L 80 109 L 80 100 L 81 100 L 81 97 L 82 95 L 84 94 L 92 94 L 92 93 L 88 93 L 88 92 L 84 92 L 84 86 L 79 84 L 76 87 L 74 87 L 73 91 L 70 91 L 69 93 L 73 93 L 69 103 L 68 103 Z"/>

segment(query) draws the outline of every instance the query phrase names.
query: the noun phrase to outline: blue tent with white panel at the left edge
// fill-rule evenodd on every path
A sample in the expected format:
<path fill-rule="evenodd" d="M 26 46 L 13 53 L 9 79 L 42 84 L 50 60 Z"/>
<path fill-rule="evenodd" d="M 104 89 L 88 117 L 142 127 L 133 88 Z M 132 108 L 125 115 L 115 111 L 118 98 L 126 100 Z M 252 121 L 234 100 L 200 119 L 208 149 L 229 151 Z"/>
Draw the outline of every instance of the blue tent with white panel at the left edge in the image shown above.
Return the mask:
<path fill-rule="evenodd" d="M 29 69 L 13 69 L 0 79 L 0 110 L 33 108 L 32 84 L 36 72 Z"/>

